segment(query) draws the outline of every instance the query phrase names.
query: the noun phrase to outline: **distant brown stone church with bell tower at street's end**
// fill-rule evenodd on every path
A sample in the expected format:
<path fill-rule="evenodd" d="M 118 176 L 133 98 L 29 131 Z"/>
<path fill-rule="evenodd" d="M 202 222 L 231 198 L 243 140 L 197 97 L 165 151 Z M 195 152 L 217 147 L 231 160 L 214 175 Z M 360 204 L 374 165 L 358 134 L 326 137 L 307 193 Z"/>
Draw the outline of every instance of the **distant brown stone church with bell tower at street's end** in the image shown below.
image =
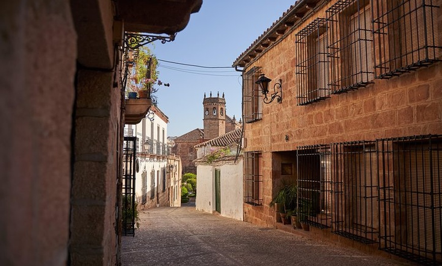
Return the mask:
<path fill-rule="evenodd" d="M 197 158 L 195 145 L 211 140 L 227 132 L 241 127 L 241 121 L 237 122 L 235 116 L 230 118 L 226 114 L 226 99 L 222 96 L 209 97 L 204 94 L 203 99 L 203 122 L 204 129 L 196 128 L 174 139 L 173 152 L 181 157 L 182 174 L 197 173 L 193 162 Z"/>

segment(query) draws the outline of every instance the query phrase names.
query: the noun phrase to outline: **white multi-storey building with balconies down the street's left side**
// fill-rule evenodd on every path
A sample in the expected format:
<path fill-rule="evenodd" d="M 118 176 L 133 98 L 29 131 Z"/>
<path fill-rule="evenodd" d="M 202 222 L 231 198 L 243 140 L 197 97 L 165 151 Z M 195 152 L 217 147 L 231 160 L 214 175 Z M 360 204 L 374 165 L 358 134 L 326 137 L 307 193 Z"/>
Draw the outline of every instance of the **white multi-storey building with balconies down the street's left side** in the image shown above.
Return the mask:
<path fill-rule="evenodd" d="M 125 125 L 124 136 L 137 138 L 135 197 L 138 208 L 180 206 L 181 160 L 170 154 L 169 118 L 157 107 L 136 125 Z"/>

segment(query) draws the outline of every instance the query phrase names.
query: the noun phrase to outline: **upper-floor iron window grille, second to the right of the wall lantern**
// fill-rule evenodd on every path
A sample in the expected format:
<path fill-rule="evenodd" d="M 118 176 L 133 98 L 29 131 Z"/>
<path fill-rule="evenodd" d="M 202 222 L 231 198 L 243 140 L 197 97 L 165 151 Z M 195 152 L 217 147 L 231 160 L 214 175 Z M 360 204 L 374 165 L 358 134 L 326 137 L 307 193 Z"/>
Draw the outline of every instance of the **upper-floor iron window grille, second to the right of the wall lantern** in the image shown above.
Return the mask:
<path fill-rule="evenodd" d="M 340 0 L 327 11 L 332 93 L 373 83 L 373 34 L 369 0 Z"/>

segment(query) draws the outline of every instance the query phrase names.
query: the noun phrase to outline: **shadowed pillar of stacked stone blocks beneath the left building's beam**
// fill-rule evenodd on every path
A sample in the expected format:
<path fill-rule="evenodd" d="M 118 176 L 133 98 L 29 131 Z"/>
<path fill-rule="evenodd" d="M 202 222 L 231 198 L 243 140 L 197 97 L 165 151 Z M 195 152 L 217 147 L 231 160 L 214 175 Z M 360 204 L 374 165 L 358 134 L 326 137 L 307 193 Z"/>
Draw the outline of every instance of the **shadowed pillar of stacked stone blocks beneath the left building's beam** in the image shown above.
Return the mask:
<path fill-rule="evenodd" d="M 121 94 L 113 72 L 77 75 L 71 263 L 115 265 Z"/>

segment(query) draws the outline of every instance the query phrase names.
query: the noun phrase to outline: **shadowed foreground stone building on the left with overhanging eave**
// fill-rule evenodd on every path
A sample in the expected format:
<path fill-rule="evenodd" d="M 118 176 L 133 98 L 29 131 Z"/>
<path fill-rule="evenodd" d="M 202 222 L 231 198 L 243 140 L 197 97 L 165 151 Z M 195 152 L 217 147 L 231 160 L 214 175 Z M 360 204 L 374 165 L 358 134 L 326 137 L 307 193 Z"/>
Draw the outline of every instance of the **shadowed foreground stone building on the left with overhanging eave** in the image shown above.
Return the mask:
<path fill-rule="evenodd" d="M 123 43 L 171 40 L 201 5 L 1 2 L 0 264 L 119 265 L 123 128 L 150 103 L 124 99 Z"/>

